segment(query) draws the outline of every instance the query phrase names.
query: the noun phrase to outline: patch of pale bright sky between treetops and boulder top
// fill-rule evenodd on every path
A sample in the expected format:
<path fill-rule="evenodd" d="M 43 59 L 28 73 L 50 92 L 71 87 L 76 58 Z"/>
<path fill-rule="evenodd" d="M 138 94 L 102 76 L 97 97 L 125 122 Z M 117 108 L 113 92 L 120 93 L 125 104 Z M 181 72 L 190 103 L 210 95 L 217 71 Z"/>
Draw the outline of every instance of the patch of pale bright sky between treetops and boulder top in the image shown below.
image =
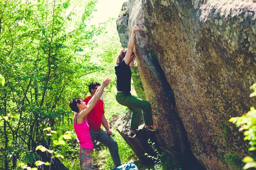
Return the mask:
<path fill-rule="evenodd" d="M 93 12 L 93 19 L 90 23 L 98 25 L 107 21 L 109 18 L 117 18 L 125 1 L 128 0 L 98 0 L 95 6 L 97 11 Z"/>

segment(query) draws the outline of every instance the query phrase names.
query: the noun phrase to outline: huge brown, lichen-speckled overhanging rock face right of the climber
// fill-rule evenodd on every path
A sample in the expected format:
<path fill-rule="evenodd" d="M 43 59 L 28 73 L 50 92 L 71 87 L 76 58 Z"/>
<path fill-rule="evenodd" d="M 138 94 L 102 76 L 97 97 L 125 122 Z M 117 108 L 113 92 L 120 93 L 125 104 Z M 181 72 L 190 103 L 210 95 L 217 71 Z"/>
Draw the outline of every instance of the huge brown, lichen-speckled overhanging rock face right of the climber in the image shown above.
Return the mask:
<path fill-rule="evenodd" d="M 128 28 L 160 147 L 206 169 L 247 154 L 230 117 L 255 105 L 255 0 L 130 0 Z M 190 151 L 191 148 L 191 151 Z"/>

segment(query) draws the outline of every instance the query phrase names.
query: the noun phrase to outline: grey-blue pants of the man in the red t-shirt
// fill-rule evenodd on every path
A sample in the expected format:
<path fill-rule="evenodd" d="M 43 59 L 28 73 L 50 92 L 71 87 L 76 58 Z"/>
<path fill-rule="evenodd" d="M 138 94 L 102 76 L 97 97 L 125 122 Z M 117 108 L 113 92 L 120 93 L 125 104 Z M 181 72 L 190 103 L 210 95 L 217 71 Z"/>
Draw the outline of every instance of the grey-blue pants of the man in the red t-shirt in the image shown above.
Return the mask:
<path fill-rule="evenodd" d="M 118 153 L 118 146 L 115 139 L 113 139 L 111 136 L 108 136 L 108 134 L 104 130 L 89 130 L 92 142 L 94 143 L 95 140 L 101 142 L 102 144 L 105 144 L 109 152 L 111 154 L 112 160 L 114 162 L 115 167 L 119 167 L 121 164 L 119 153 Z"/>

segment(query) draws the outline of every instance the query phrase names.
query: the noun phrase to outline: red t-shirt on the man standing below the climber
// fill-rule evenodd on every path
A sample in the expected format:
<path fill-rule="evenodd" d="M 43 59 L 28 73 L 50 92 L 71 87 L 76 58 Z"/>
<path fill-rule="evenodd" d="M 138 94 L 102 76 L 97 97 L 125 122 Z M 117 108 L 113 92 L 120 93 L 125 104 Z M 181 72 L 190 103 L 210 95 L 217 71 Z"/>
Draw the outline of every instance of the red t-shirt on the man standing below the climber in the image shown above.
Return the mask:
<path fill-rule="evenodd" d="M 88 96 L 84 99 L 86 105 L 88 104 L 91 98 L 91 96 Z M 98 131 L 101 129 L 101 119 L 104 113 L 105 112 L 103 102 L 101 99 L 99 99 L 99 102 L 94 106 L 93 110 L 91 110 L 87 116 L 87 122 L 91 130 Z"/>

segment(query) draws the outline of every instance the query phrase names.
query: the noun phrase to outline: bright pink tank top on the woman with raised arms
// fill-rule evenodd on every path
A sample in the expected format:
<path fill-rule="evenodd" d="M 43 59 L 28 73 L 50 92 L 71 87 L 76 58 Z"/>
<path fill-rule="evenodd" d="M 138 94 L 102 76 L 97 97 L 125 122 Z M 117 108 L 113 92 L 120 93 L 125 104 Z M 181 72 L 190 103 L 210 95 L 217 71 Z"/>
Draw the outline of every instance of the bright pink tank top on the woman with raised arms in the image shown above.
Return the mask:
<path fill-rule="evenodd" d="M 87 148 L 87 149 L 93 149 L 93 142 L 90 138 L 90 132 L 89 132 L 89 125 L 87 124 L 86 120 L 84 119 L 84 122 L 81 124 L 76 124 L 76 116 L 79 113 L 76 113 L 73 124 L 74 129 L 76 132 L 76 136 L 79 140 L 80 147 Z"/>

